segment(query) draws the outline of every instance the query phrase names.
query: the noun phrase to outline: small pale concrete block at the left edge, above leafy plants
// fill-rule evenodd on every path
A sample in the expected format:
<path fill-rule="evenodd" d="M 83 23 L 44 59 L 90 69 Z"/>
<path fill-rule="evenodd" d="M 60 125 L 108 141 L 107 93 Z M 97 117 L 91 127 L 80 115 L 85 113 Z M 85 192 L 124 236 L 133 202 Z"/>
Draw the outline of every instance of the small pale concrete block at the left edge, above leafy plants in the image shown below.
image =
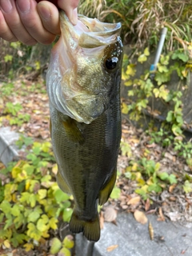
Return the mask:
<path fill-rule="evenodd" d="M 10 127 L 0 128 L 0 160 L 5 166 L 18 160 L 18 147 L 15 145 L 18 138 L 19 134 L 10 130 Z"/>

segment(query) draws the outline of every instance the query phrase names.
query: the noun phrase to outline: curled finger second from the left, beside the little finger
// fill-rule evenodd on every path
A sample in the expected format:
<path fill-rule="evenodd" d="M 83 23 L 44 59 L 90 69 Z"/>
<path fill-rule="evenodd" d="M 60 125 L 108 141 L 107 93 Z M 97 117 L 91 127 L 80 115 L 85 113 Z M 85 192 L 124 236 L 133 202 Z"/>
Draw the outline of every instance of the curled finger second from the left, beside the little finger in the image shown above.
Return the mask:
<path fill-rule="evenodd" d="M 14 37 L 18 38 L 19 41 L 27 45 L 34 45 L 36 41 L 30 36 L 25 27 L 22 25 L 14 0 L 1 0 L 0 8 L 6 24 L 14 34 Z"/>

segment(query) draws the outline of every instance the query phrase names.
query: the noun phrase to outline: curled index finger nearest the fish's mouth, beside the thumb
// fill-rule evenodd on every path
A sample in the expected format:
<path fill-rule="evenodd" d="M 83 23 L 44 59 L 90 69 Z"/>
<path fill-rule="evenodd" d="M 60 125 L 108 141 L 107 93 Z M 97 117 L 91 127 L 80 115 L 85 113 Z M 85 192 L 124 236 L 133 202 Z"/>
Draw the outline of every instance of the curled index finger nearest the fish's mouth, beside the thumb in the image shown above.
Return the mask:
<path fill-rule="evenodd" d="M 52 34 L 60 34 L 58 8 L 50 2 L 42 1 L 37 6 L 44 28 Z"/>

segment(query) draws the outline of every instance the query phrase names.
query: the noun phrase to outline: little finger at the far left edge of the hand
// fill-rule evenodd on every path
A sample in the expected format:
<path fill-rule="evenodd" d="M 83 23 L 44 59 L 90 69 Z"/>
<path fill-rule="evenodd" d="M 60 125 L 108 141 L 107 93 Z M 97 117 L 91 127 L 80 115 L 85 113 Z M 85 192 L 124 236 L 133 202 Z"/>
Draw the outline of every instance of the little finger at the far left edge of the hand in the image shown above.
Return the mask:
<path fill-rule="evenodd" d="M 0 10 L 0 38 L 9 42 L 18 41 L 18 39 L 15 38 L 14 34 L 11 32 L 9 26 L 7 26 L 1 10 Z"/>

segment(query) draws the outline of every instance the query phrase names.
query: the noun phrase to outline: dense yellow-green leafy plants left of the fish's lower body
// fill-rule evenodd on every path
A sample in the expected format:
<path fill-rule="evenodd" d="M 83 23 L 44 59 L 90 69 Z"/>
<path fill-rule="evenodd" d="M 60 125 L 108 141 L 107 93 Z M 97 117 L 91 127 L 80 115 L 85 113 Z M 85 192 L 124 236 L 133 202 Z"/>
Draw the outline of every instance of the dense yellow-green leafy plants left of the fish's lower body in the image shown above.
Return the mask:
<path fill-rule="evenodd" d="M 0 182 L 0 246 L 22 244 L 31 250 L 57 234 L 59 220 L 69 222 L 71 197 L 58 188 L 56 171 L 50 142 L 33 142 L 26 160 L 1 171 L 8 182 Z M 65 241 L 62 249 L 69 248 Z"/>

